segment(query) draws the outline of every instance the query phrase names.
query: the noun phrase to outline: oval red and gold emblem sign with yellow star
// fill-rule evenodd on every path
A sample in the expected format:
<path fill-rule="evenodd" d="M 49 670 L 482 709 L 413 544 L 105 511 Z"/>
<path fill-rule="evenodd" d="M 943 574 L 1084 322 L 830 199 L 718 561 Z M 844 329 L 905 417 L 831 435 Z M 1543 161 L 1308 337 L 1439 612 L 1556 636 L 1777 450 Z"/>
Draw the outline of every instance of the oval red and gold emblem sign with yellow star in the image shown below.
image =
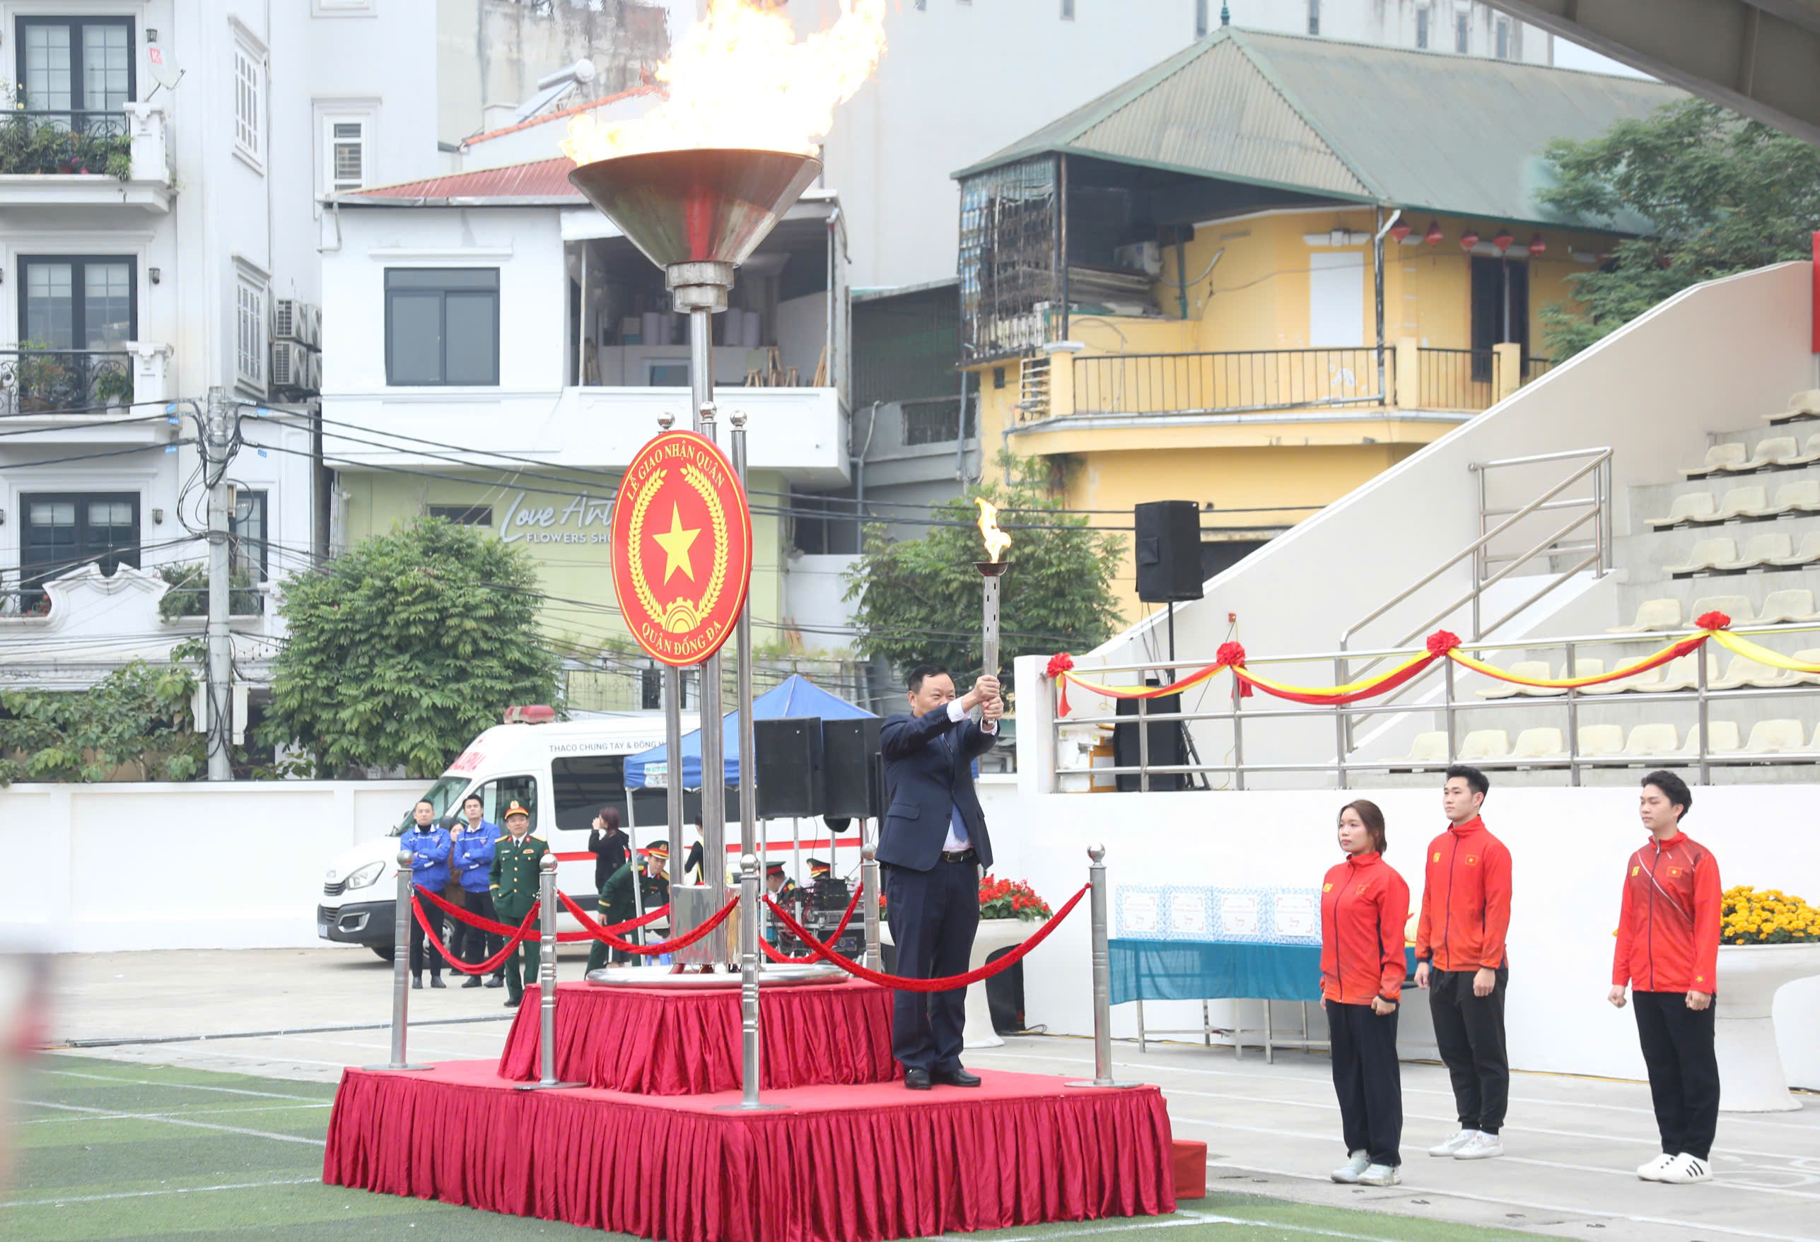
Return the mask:
<path fill-rule="evenodd" d="M 721 649 L 752 584 L 752 507 L 713 440 L 666 431 L 637 451 L 612 547 L 619 609 L 644 651 L 681 667 Z"/>

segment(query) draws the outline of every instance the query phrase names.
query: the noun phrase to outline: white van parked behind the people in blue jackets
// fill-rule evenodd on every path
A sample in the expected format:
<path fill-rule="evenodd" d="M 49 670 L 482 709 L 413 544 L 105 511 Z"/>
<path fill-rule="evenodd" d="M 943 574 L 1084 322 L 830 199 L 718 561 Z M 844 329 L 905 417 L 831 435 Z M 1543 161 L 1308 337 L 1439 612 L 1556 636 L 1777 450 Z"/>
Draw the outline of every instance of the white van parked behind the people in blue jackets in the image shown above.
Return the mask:
<path fill-rule="evenodd" d="M 508 716 L 513 713 L 508 713 Z M 682 713 L 682 733 L 695 729 L 695 715 Z M 460 815 L 470 793 L 479 793 L 486 818 L 504 831 L 511 802 L 531 813 L 531 831 L 557 851 L 557 887 L 577 906 L 593 909 L 599 895 L 588 827 L 604 806 L 619 807 L 621 824 L 632 826 L 633 842 L 664 835 L 662 789 L 639 789 L 626 806 L 624 764 L 664 742 L 662 713 L 624 713 L 590 720 L 550 724 L 502 724 L 488 729 L 450 764 L 424 798 L 437 816 Z M 411 824 L 410 806 L 386 836 L 375 836 L 333 860 L 317 907 L 317 935 L 340 944 L 364 944 L 391 960 L 391 924 L 399 891 L 399 836 Z M 699 795 L 686 795 L 693 818 Z M 564 924 L 571 922 L 562 915 Z"/>

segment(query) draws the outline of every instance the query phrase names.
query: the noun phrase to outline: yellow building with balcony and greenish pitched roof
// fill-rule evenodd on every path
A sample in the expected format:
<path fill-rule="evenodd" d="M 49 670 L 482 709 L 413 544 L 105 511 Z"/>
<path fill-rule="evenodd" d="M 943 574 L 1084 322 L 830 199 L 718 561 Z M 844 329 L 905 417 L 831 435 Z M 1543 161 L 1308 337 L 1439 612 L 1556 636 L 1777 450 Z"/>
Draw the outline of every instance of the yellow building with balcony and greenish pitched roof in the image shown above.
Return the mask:
<path fill-rule="evenodd" d="M 1674 98 L 1219 29 L 956 175 L 981 447 L 1196 500 L 1212 576 L 1551 366 L 1542 307 L 1638 222 L 1538 204 L 1543 149 Z"/>

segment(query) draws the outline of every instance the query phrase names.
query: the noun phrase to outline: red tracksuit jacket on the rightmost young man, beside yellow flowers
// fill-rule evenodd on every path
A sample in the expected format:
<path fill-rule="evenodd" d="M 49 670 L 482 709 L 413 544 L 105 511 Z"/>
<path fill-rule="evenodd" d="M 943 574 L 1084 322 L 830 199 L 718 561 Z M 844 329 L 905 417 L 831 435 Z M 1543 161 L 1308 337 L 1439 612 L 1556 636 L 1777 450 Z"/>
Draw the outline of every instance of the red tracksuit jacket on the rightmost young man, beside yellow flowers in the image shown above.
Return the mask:
<path fill-rule="evenodd" d="M 1623 864 L 1623 906 L 1611 982 L 1636 991 L 1711 993 L 1718 967 L 1724 886 L 1718 858 L 1676 833 L 1654 836 Z"/>

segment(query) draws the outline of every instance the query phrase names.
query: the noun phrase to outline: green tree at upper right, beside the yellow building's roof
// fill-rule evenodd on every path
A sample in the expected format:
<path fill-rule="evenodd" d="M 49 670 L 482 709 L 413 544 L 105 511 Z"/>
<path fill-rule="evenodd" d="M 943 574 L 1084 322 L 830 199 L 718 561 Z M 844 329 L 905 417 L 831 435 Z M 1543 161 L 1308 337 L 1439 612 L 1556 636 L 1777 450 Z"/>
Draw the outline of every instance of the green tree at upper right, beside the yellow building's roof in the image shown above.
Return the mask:
<path fill-rule="evenodd" d="M 1807 258 L 1820 224 L 1820 149 L 1705 100 L 1556 138 L 1556 184 L 1536 198 L 1620 231 L 1598 271 L 1569 276 L 1583 311 L 1542 307 L 1549 351 L 1572 356 L 1682 289 Z"/>

